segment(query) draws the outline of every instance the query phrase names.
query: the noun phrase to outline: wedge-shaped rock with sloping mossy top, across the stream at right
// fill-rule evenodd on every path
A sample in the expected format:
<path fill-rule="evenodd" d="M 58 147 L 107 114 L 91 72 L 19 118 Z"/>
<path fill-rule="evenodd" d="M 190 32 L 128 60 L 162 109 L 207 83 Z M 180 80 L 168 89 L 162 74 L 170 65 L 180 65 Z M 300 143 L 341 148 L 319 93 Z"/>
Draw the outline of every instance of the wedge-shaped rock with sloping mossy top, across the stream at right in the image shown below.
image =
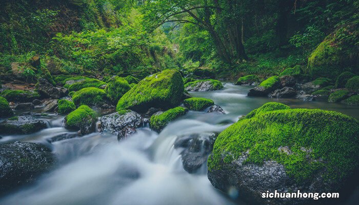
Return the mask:
<path fill-rule="evenodd" d="M 248 96 L 267 96 L 272 91 L 281 87 L 281 79 L 274 75 L 264 80 L 259 86 L 249 90 Z"/>

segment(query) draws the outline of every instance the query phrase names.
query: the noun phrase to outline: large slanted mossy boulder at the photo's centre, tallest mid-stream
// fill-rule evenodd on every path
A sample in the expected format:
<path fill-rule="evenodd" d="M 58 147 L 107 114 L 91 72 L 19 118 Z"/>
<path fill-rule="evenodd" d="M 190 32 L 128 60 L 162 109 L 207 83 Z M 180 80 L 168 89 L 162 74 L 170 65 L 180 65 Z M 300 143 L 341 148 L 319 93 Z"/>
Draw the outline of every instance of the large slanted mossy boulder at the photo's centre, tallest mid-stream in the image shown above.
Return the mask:
<path fill-rule="evenodd" d="M 175 107 L 181 102 L 183 92 L 181 73 L 176 70 L 164 70 L 139 81 L 118 100 L 116 110 L 131 109 L 144 112 L 152 107 Z"/>

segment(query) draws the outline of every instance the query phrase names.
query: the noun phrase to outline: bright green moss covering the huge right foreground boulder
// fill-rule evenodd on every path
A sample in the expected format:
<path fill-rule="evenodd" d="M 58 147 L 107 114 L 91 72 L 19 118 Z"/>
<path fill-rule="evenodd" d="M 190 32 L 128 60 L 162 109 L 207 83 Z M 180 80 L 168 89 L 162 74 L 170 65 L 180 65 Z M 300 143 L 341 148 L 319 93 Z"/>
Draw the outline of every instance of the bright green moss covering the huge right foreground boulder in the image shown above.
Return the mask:
<path fill-rule="evenodd" d="M 223 169 L 225 163 L 248 152 L 245 163 L 262 165 L 265 160 L 274 160 L 297 181 L 317 173 L 323 173 L 325 181 L 337 181 L 354 173 L 359 154 L 356 119 L 333 111 L 274 107 L 285 109 L 261 109 L 218 135 L 208 169 Z M 291 154 L 278 149 L 281 147 L 288 147 Z M 227 160 L 223 162 L 223 158 Z"/>

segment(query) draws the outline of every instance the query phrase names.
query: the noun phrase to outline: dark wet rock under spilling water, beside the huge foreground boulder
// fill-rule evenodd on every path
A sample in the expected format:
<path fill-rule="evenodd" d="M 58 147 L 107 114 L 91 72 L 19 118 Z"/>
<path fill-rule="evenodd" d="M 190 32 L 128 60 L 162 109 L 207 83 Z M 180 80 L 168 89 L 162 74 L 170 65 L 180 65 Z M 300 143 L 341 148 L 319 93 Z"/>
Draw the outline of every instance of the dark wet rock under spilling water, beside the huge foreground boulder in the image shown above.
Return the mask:
<path fill-rule="evenodd" d="M 176 139 L 174 147 L 182 148 L 182 164 L 184 169 L 193 173 L 207 162 L 208 155 L 213 149 L 216 134 L 193 134 Z"/>

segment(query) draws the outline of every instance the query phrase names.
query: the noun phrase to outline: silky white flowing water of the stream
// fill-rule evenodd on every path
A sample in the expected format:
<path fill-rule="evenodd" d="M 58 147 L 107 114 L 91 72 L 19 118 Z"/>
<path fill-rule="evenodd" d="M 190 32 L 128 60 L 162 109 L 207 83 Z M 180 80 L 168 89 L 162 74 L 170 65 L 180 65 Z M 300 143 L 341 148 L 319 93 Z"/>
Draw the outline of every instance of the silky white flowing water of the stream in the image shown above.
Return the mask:
<path fill-rule="evenodd" d="M 48 142 L 62 128 L 64 116 L 49 115 L 48 128 L 30 135 L 3 136 L 0 144 L 11 141 L 42 142 L 56 154 L 57 168 L 35 184 L 0 199 L 0 204 L 233 204 L 214 189 L 207 179 L 206 165 L 195 174 L 182 166 L 177 137 L 186 134 L 221 132 L 238 117 L 268 101 L 292 108 L 335 110 L 359 118 L 358 107 L 295 99 L 251 98 L 250 88 L 225 84 L 213 92 L 193 92 L 221 106 L 226 115 L 190 111 L 171 122 L 161 133 L 141 128 L 118 143 L 117 136 L 92 133 L 80 138 Z M 229 193 L 231 194 L 231 193 Z M 235 203 L 245 204 L 241 201 Z"/>

